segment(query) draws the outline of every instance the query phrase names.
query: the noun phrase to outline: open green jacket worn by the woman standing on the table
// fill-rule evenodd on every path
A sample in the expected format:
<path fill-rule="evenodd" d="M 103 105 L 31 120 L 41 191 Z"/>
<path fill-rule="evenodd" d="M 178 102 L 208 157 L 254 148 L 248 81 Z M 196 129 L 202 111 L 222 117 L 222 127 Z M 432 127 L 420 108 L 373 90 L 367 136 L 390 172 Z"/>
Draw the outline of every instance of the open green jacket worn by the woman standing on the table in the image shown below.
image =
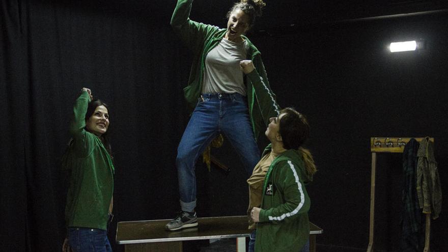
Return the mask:
<path fill-rule="evenodd" d="M 202 82 L 207 53 L 219 44 L 226 35 L 227 29 L 195 22 L 189 19 L 193 0 L 178 0 L 171 18 L 171 25 L 175 32 L 193 52 L 188 85 L 184 88 L 185 99 L 192 111 L 201 95 Z M 269 118 L 276 117 L 279 106 L 275 94 L 269 87 L 260 51 L 246 37 L 247 60 L 254 63 L 255 70 L 245 75 L 247 90 L 247 104 L 249 116 L 253 126 L 254 136 L 258 138 L 260 130 L 269 124 Z M 243 74 L 241 72 L 241 74 Z"/>

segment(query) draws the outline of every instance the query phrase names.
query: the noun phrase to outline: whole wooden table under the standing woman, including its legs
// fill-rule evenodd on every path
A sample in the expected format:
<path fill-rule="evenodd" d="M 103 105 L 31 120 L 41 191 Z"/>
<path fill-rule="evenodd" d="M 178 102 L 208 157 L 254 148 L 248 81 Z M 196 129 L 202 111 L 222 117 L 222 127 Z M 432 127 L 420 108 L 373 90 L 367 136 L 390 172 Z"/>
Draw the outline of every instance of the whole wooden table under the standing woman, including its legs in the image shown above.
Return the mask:
<path fill-rule="evenodd" d="M 198 218 L 198 227 L 166 231 L 171 219 L 122 221 L 117 224 L 118 244 L 125 252 L 182 252 L 182 241 L 236 238 L 237 251 L 245 251 L 245 239 L 250 236 L 247 216 Z M 316 235 L 322 229 L 310 222 L 310 251 L 316 251 Z"/>

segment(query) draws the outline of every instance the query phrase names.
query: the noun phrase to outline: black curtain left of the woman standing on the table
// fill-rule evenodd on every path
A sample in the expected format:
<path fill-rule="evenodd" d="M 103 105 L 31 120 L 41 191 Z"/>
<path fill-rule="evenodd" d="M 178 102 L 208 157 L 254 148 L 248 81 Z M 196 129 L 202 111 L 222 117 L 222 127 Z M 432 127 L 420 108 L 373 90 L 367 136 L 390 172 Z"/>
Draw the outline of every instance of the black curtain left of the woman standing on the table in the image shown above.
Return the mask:
<path fill-rule="evenodd" d="M 161 14 L 149 6 L 146 15 L 119 7 L 2 1 L 2 251 L 61 249 L 67 187 L 60 158 L 82 87 L 110 104 L 116 219 L 169 218 L 177 210 L 174 155 L 188 119 L 182 86 L 189 71 L 179 59 L 189 54 L 169 14 L 155 24 Z"/>

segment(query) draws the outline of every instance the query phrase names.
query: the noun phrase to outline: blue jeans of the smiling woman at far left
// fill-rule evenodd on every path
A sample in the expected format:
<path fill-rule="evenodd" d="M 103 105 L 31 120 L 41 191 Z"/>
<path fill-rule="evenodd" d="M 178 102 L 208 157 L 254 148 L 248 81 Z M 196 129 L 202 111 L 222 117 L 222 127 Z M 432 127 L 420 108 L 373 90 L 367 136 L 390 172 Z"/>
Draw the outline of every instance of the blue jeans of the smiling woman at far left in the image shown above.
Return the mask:
<path fill-rule="evenodd" d="M 107 231 L 89 228 L 69 228 L 68 239 L 73 252 L 111 252 Z"/>

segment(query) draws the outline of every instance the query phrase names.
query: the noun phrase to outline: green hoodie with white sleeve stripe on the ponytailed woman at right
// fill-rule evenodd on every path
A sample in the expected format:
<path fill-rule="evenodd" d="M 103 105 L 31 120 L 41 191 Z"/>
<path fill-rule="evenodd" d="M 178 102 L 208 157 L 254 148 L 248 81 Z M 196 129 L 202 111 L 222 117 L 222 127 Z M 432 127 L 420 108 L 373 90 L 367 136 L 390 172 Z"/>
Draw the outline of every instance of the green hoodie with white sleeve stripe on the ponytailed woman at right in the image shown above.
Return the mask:
<path fill-rule="evenodd" d="M 270 146 L 265 153 L 269 151 Z M 287 150 L 272 161 L 263 186 L 256 252 L 300 251 L 305 245 L 310 236 L 310 198 L 304 183 L 309 181 L 297 150 Z"/>

